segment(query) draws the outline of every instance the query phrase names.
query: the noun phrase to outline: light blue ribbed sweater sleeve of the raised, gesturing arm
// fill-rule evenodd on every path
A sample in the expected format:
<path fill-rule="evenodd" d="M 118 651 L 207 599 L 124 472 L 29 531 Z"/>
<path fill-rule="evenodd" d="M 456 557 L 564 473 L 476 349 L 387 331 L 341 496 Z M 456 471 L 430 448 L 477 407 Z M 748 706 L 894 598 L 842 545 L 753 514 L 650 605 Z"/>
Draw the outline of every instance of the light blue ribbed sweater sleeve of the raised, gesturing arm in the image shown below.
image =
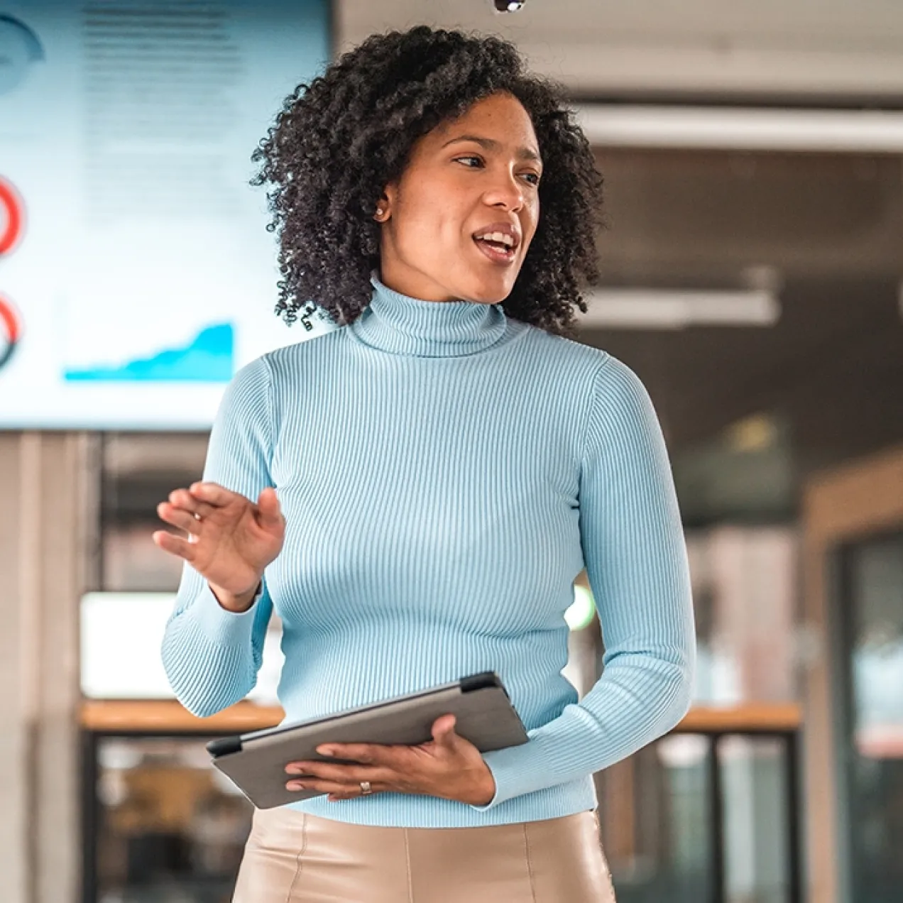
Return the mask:
<path fill-rule="evenodd" d="M 264 358 L 237 372 L 210 431 L 205 481 L 253 501 L 273 485 L 270 397 Z M 265 580 L 251 608 L 237 614 L 224 609 L 207 581 L 184 563 L 161 652 L 172 690 L 189 712 L 212 715 L 254 688 L 272 610 Z"/>

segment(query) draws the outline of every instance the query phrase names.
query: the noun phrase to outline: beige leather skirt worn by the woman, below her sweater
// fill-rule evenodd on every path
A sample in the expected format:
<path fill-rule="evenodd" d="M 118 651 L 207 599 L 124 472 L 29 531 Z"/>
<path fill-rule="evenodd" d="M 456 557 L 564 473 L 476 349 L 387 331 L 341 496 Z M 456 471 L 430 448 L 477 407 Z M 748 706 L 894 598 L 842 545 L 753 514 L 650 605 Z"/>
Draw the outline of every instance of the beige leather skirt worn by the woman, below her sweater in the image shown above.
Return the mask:
<path fill-rule="evenodd" d="M 256 810 L 233 903 L 613 903 L 594 812 L 383 828 Z"/>

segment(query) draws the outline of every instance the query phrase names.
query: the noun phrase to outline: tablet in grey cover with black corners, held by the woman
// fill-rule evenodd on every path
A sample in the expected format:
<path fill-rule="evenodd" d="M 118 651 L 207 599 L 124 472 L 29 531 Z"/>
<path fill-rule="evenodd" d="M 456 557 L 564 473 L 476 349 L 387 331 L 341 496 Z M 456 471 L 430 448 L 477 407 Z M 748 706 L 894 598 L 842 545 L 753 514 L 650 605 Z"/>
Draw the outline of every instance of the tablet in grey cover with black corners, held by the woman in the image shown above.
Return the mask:
<path fill-rule="evenodd" d="M 325 718 L 211 740 L 207 749 L 213 765 L 258 809 L 271 809 L 321 795 L 319 790 L 286 790 L 292 776 L 285 766 L 317 759 L 342 762 L 319 755 L 322 743 L 416 746 L 433 739 L 433 721 L 446 714 L 456 716 L 455 730 L 480 752 L 527 741 L 505 687 L 488 671 Z"/>

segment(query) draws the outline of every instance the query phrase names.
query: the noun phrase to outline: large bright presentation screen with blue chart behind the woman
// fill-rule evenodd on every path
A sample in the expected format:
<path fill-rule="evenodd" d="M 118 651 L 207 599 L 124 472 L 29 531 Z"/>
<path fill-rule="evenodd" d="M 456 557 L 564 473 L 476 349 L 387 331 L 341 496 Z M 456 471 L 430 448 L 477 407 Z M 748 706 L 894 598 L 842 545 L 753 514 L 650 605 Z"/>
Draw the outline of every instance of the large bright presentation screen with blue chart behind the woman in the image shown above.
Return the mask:
<path fill-rule="evenodd" d="M 276 316 L 248 184 L 330 44 L 328 0 L 0 0 L 0 429 L 206 429 L 333 328 Z"/>

